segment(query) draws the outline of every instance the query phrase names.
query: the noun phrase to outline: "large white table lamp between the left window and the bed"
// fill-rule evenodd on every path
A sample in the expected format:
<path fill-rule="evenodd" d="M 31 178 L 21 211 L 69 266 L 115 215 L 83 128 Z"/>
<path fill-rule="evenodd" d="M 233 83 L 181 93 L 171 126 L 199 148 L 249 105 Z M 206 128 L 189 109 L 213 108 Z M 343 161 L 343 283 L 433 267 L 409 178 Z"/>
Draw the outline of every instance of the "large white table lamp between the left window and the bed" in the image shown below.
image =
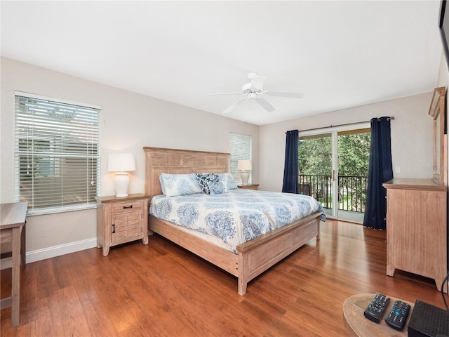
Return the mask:
<path fill-rule="evenodd" d="M 133 154 L 109 154 L 107 171 L 116 172 L 114 177 L 116 197 L 128 197 L 128 187 L 130 181 L 128 171 L 135 171 Z"/>

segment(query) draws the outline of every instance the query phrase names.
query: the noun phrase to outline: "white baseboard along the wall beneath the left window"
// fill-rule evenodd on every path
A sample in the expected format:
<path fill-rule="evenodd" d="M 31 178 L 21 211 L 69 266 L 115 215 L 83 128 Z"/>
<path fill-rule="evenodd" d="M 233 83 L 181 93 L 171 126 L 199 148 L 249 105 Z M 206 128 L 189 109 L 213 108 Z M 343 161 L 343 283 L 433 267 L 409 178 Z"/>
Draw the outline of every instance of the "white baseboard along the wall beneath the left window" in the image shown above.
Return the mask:
<path fill-rule="evenodd" d="M 39 260 L 45 260 L 46 258 L 54 258 L 55 256 L 61 256 L 76 251 L 83 251 L 84 249 L 90 249 L 97 246 L 97 238 L 81 240 L 77 242 L 70 242 L 69 244 L 61 244 L 59 246 L 53 246 L 46 249 L 37 249 L 36 251 L 27 252 L 27 263 L 36 262 Z M 0 260 L 0 269 L 11 268 L 13 264 L 13 258 L 3 258 Z"/>

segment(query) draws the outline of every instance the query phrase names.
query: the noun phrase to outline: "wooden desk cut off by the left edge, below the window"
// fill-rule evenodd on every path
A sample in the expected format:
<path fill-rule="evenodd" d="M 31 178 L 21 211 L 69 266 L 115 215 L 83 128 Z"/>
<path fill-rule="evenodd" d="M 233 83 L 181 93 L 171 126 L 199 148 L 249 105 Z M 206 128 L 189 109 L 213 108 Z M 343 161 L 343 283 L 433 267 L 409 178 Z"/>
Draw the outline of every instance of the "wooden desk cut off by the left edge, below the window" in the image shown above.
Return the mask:
<path fill-rule="evenodd" d="M 28 203 L 14 202 L 0 206 L 0 242 L 11 242 L 13 249 L 11 297 L 2 298 L 0 307 L 11 306 L 11 326 L 17 326 L 20 318 L 20 265 L 25 268 L 25 218 Z"/>

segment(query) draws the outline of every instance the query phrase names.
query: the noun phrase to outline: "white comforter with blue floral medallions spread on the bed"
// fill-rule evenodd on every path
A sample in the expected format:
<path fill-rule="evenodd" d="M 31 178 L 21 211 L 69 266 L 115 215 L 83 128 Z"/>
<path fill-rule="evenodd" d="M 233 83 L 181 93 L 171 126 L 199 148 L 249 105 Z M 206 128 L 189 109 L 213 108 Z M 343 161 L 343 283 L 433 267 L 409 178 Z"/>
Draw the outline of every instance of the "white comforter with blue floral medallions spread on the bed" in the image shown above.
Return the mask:
<path fill-rule="evenodd" d="M 219 237 L 232 251 L 243 242 L 315 211 L 322 211 L 320 219 L 326 220 L 323 207 L 312 197 L 255 190 L 178 197 L 157 195 L 149 208 L 156 218 Z"/>

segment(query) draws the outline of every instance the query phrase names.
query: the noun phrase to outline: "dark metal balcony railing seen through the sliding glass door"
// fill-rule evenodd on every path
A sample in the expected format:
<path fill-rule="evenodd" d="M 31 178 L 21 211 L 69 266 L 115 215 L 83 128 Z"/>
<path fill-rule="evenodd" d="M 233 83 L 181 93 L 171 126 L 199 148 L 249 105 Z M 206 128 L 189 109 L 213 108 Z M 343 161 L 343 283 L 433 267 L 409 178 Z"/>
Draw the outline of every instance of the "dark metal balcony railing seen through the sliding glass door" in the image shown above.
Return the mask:
<path fill-rule="evenodd" d="M 332 208 L 332 177 L 300 174 L 300 193 L 308 194 L 318 200 L 323 208 Z M 368 177 L 338 177 L 338 209 L 363 213 L 366 205 Z"/>

